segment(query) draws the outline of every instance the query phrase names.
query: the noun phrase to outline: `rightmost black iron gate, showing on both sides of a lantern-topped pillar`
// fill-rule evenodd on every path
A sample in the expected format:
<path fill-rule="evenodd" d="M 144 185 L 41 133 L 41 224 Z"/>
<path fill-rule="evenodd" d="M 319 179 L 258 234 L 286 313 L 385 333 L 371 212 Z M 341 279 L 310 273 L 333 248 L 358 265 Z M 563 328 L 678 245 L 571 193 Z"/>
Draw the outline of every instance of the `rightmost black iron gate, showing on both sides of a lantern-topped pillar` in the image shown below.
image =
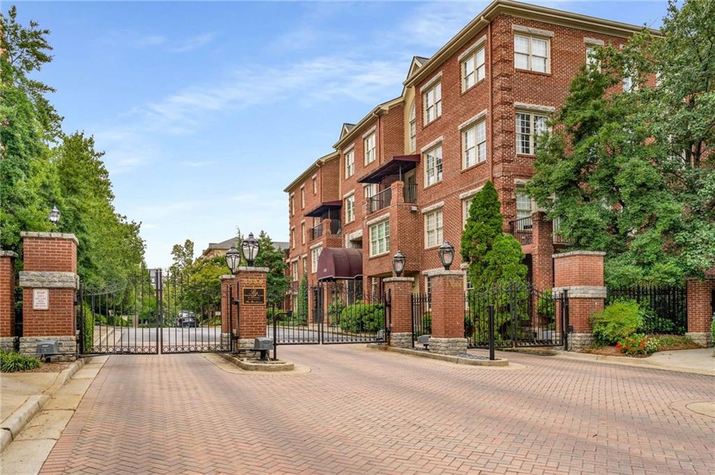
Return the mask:
<path fill-rule="evenodd" d="M 432 330 L 430 296 L 412 297 L 413 342 Z M 470 348 L 489 346 L 489 306 L 494 306 L 495 346 L 562 346 L 568 329 L 568 296 L 511 282 L 470 290 L 464 296 L 464 335 Z"/>

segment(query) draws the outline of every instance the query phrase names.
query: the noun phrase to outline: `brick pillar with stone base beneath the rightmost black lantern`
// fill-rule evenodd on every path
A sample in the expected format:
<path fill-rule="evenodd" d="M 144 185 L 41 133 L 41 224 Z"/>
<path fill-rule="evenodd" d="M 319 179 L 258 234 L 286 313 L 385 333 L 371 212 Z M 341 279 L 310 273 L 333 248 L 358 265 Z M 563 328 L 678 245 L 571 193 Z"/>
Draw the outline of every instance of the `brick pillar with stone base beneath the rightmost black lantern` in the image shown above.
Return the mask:
<path fill-rule="evenodd" d="M 464 337 L 464 273 L 429 271 L 432 294 L 430 351 L 440 354 L 467 352 Z"/>

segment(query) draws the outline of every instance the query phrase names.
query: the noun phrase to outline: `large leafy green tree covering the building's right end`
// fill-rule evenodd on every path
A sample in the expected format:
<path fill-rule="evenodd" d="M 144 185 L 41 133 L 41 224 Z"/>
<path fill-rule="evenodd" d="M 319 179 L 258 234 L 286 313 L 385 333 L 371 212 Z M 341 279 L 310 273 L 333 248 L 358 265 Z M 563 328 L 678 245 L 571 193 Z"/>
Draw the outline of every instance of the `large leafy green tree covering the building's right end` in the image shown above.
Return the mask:
<path fill-rule="evenodd" d="M 606 251 L 611 285 L 673 284 L 715 263 L 715 2 L 671 2 L 661 33 L 581 70 L 528 185 L 571 246 Z"/>

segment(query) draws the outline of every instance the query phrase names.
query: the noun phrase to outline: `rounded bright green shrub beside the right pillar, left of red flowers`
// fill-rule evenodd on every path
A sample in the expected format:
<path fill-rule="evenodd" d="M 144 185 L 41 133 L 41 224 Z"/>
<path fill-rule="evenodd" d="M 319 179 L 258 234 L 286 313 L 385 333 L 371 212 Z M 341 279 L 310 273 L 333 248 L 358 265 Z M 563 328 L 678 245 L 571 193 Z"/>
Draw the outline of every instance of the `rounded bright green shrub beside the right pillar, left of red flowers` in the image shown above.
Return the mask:
<path fill-rule="evenodd" d="M 638 302 L 619 300 L 591 316 L 593 339 L 601 345 L 613 345 L 636 333 L 643 317 Z"/>

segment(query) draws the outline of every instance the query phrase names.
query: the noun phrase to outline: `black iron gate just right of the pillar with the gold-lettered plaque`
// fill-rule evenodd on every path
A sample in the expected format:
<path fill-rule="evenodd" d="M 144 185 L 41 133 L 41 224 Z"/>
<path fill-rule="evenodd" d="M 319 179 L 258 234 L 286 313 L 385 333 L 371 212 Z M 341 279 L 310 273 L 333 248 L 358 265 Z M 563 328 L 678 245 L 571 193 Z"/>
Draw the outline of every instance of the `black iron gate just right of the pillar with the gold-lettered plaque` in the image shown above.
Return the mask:
<path fill-rule="evenodd" d="M 279 345 L 377 343 L 388 340 L 389 319 L 388 294 L 363 295 L 359 281 L 323 282 L 296 310 L 267 319 L 266 334 Z"/>

